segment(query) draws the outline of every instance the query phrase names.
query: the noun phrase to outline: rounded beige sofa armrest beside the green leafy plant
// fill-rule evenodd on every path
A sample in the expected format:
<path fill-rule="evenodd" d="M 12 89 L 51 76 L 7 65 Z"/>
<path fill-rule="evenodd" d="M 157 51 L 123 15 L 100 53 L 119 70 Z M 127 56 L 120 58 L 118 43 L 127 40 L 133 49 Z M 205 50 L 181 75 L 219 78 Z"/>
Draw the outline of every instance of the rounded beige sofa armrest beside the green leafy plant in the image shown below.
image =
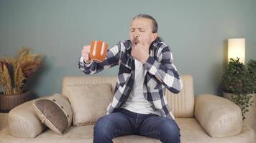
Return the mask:
<path fill-rule="evenodd" d="M 196 96 L 195 117 L 211 137 L 232 137 L 242 131 L 241 109 L 223 97 Z"/>

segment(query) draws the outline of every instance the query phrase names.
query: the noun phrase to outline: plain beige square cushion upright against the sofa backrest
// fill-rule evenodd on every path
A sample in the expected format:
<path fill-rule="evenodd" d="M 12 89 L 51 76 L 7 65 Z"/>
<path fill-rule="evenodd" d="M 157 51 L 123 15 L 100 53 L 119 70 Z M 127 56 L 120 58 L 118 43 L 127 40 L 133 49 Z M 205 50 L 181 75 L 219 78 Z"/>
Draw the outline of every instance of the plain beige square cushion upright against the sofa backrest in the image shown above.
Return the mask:
<path fill-rule="evenodd" d="M 67 87 L 73 109 L 73 125 L 94 124 L 106 114 L 106 107 L 113 97 L 111 84 L 79 84 Z"/>

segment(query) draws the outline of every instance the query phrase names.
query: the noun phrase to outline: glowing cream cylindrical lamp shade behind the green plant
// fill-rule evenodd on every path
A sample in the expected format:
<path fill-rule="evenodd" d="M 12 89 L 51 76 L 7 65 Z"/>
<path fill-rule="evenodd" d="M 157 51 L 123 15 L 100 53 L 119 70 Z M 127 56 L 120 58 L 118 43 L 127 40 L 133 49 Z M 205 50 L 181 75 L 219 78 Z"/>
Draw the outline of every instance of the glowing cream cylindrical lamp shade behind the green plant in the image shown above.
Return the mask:
<path fill-rule="evenodd" d="M 244 64 L 245 61 L 245 39 L 228 39 L 228 61 L 237 59 Z"/>

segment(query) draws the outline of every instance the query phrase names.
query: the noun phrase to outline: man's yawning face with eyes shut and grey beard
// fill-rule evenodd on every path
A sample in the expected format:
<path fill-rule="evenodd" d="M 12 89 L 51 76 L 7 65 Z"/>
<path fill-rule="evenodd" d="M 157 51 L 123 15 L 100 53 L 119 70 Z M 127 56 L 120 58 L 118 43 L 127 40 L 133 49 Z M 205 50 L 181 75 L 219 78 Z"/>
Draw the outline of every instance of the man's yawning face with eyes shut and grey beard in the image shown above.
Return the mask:
<path fill-rule="evenodd" d="M 152 21 L 146 18 L 134 19 L 129 29 L 129 39 L 132 45 L 147 44 L 150 45 L 152 41 L 157 38 L 157 33 L 152 33 Z"/>

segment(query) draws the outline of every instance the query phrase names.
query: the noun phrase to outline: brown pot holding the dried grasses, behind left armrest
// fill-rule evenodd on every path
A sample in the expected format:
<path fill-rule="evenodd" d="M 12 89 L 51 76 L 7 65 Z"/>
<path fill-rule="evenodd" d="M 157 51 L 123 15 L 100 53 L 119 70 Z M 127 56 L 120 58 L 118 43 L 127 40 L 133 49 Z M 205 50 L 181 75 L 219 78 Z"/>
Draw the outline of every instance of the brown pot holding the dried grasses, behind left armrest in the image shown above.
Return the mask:
<path fill-rule="evenodd" d="M 27 102 L 33 99 L 32 92 L 24 92 L 22 94 L 11 94 L 4 95 L 0 93 L 0 112 L 9 112 L 14 107 L 17 107 L 19 104 Z"/>

